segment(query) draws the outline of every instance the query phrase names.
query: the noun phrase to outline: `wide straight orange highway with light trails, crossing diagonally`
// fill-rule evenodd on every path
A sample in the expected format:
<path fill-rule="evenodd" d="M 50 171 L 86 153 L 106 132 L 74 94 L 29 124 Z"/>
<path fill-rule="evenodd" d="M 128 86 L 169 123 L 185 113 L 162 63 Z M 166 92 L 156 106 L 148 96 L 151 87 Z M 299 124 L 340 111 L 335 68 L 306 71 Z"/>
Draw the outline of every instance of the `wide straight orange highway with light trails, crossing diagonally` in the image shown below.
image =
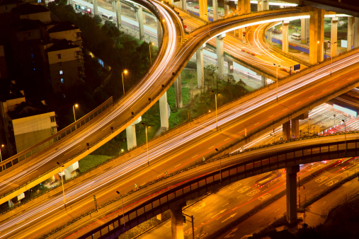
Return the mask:
<path fill-rule="evenodd" d="M 216 28 L 216 26 L 213 26 L 213 28 Z M 212 29 L 211 27 L 211 30 L 215 29 Z M 188 48 L 183 47 L 183 50 L 178 52 L 178 57 L 171 63 L 173 67 L 176 66 L 177 61 L 181 59 L 182 55 L 190 55 L 188 52 L 195 49 L 193 46 L 193 49 L 191 49 L 190 46 L 193 45 L 194 42 L 199 41 L 198 38 L 201 37 L 201 34 L 207 35 L 205 30 L 204 32 L 203 30 L 198 30 L 198 33 L 193 35 L 194 37 L 191 37 L 190 40 L 186 41 L 185 47 Z M 355 60 L 358 61 L 358 56 L 348 57 L 347 63 L 345 63 L 345 61 L 335 63 L 334 70 L 345 68 L 349 64 L 353 64 Z M 355 64 L 355 66 L 357 65 Z M 67 212 L 62 211 L 62 198 L 61 195 L 57 195 L 57 197 L 47 201 L 51 206 L 45 206 L 45 211 L 38 211 L 37 209 L 34 214 L 34 211 L 30 211 L 29 209 L 28 213 L 16 216 L 14 221 L 11 222 L 11 220 L 9 220 L 8 223 L 2 223 L 0 237 L 4 238 L 12 235 L 14 238 L 21 238 L 23 236 L 28 236 L 29 234 L 35 235 L 35 232 L 41 231 L 42 233 L 45 233 L 47 228 L 49 228 L 49 230 L 50 228 L 56 228 L 59 226 L 59 223 L 67 221 L 69 216 L 73 218 L 76 214 L 81 214 L 81 212 L 86 212 L 89 211 L 88 209 L 92 209 L 93 192 L 96 192 L 98 204 L 103 204 L 103 202 L 117 197 L 117 194 L 111 196 L 112 192 L 115 192 L 116 190 L 119 190 L 120 192 L 128 192 L 133 189 L 134 183 L 142 185 L 147 182 L 149 178 L 156 178 L 157 176 L 163 175 L 165 170 L 171 173 L 171 171 L 176 170 L 176 168 L 186 167 L 186 165 L 193 163 L 193 161 L 198 160 L 198 158 L 205 156 L 207 153 L 211 153 L 211 151 L 213 151 L 212 148 L 221 148 L 221 146 L 231 142 L 229 139 L 237 139 L 238 137 L 243 136 L 244 132 L 242 129 L 244 128 L 247 128 L 249 133 L 255 129 L 260 129 L 263 125 L 268 123 L 268 120 L 272 120 L 270 118 L 275 119 L 281 115 L 285 115 L 291 110 L 295 110 L 295 108 L 302 107 L 302 105 L 309 103 L 307 101 L 310 101 L 311 99 L 315 100 L 322 95 L 330 94 L 331 91 L 329 90 L 340 88 L 343 84 L 351 82 L 356 83 L 357 79 L 351 77 L 351 75 L 356 74 L 358 71 L 354 68 L 356 67 L 346 67 L 345 70 L 338 71 L 337 74 L 334 74 L 333 78 L 325 78 L 324 76 L 328 76 L 329 74 L 329 66 L 326 66 L 325 71 L 321 72 L 321 76 L 319 75 L 315 77 L 316 74 L 319 74 L 318 71 L 314 73 L 312 72 L 307 74 L 306 77 L 299 78 L 292 83 L 280 86 L 279 105 L 275 104 L 276 95 L 275 91 L 272 90 L 257 98 L 253 98 L 253 100 L 238 105 L 231 110 L 227 110 L 227 112 L 220 115 L 220 133 L 213 132 L 215 128 L 215 119 L 212 117 L 207 122 L 195 125 L 193 129 L 190 129 L 179 136 L 174 136 L 171 140 L 166 139 L 166 144 L 158 144 L 150 148 L 150 168 L 147 168 L 147 158 L 145 154 L 142 154 L 142 152 L 138 155 L 132 153 L 132 157 L 129 158 L 127 156 L 129 156 L 130 153 L 128 153 L 123 157 L 123 161 L 126 162 L 122 165 L 113 166 L 109 168 L 107 172 L 104 171 L 101 175 L 93 176 L 91 180 L 86 180 L 81 185 L 77 185 L 76 188 L 72 187 L 67 190 Z M 354 70 L 351 71 L 351 69 Z M 169 71 L 168 75 L 170 72 L 171 71 Z M 341 81 L 338 81 L 338 78 L 340 78 Z M 320 89 L 320 91 L 318 89 Z M 313 95 L 314 92 L 316 92 L 315 95 Z M 269 105 L 273 105 L 273 107 L 266 107 L 268 103 Z M 293 105 L 293 103 L 297 103 L 297 105 Z M 253 124 L 253 120 L 257 119 L 258 122 Z M 111 122 L 112 121 L 108 123 Z M 106 127 L 108 126 L 103 128 Z M 186 145 L 190 145 L 190 147 L 187 147 Z M 198 147 L 198 145 L 200 145 L 200 147 Z M 142 167 L 138 167 L 140 164 L 142 164 Z M 51 202 L 51 200 L 54 201 Z M 79 202 L 79 200 L 81 201 Z M 76 201 L 79 203 L 75 203 Z M 41 207 L 41 205 L 38 206 Z M 41 210 L 44 210 L 43 207 Z M 29 214 L 33 214 L 32 218 L 34 221 L 29 218 Z M 41 215 L 44 217 L 41 217 Z M 45 221 L 37 223 L 40 220 Z M 24 226 L 28 227 L 30 225 L 32 227 L 31 230 L 27 231 L 27 235 L 25 235 L 24 232 L 21 233 Z M 15 229 L 15 231 L 13 231 L 13 229 Z"/>

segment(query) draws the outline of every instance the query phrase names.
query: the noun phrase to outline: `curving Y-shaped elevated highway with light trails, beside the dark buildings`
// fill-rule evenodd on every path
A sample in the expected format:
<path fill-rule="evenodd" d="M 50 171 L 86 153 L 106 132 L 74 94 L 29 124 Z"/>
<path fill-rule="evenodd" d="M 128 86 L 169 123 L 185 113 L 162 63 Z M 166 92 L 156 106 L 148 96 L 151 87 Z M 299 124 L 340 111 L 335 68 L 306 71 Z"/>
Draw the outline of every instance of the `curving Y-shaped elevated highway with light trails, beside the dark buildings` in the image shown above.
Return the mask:
<path fill-rule="evenodd" d="M 57 162 L 68 167 L 122 132 L 154 105 L 156 100 L 171 86 L 195 50 L 208 39 L 234 28 L 243 28 L 245 25 L 281 21 L 306 14 L 296 8 L 252 13 L 217 21 L 210 24 L 209 28 L 200 28 L 190 35 L 184 35 L 178 15 L 165 4 L 156 4 L 156 7 L 160 9 L 161 19 L 164 20 L 162 23 L 166 25 L 164 42 L 158 59 L 139 85 L 132 88 L 101 117 L 93 122 L 90 121 L 89 124 L 84 124 L 84 127 L 75 131 L 74 134 L 67 135 L 66 132 L 65 134 L 59 132 L 56 136 L 61 139 L 64 135 L 64 140 L 57 144 L 41 152 L 39 152 L 40 146 L 34 146 L 0 163 L 0 168 L 3 169 L 0 173 L 3 180 L 0 186 L 0 194 L 3 196 L 0 198 L 0 203 L 16 197 L 21 192 L 59 173 L 60 168 L 57 167 Z M 148 6 L 148 8 L 151 7 Z M 20 158 L 28 160 L 20 161 Z"/>

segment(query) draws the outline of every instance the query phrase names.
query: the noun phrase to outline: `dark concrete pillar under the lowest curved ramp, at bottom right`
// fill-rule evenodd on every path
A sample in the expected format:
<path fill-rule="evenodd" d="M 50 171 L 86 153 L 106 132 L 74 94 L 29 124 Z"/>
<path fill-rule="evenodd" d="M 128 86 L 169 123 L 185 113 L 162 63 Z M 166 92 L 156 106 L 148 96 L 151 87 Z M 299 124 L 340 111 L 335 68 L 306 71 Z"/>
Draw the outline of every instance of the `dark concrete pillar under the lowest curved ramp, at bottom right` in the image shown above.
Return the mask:
<path fill-rule="evenodd" d="M 287 222 L 297 220 L 297 173 L 299 165 L 287 168 Z"/>

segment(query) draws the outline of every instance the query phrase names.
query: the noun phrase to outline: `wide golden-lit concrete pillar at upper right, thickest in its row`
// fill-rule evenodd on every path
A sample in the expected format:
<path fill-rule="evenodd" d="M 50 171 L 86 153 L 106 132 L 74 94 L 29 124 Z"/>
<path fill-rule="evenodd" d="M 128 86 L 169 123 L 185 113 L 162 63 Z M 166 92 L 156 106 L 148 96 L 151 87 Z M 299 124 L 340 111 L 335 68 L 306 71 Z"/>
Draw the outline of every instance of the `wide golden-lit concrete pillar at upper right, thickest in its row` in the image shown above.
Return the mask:
<path fill-rule="evenodd" d="M 309 11 L 309 15 L 309 63 L 317 64 L 323 61 L 323 47 L 319 46 L 322 46 L 324 42 L 324 10 L 314 8 Z"/>

